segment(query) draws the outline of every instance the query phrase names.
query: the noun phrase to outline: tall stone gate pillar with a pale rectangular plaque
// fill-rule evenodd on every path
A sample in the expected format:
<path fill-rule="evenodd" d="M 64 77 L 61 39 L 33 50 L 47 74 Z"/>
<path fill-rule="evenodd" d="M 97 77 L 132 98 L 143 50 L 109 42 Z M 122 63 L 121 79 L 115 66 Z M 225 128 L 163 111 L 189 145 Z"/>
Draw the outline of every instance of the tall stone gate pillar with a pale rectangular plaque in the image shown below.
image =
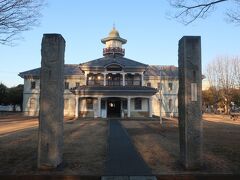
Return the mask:
<path fill-rule="evenodd" d="M 186 169 L 202 165 L 201 37 L 184 36 L 178 47 L 180 159 Z"/>

